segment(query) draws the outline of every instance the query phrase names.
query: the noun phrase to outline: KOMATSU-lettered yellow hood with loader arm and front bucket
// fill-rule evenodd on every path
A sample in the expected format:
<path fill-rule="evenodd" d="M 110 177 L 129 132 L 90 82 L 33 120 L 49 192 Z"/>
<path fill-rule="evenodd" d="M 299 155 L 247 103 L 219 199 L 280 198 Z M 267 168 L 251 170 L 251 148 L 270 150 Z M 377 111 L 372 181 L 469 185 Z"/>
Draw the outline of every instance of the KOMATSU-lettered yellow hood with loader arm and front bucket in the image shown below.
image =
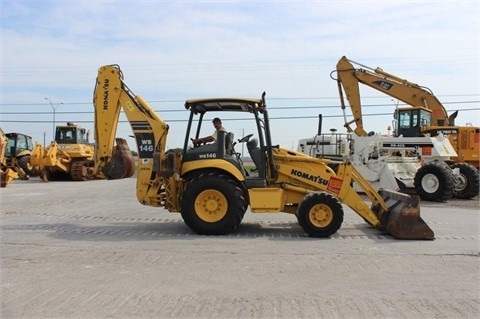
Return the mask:
<path fill-rule="evenodd" d="M 398 239 L 433 239 L 432 229 L 420 217 L 418 196 L 382 189 L 377 192 L 349 162 L 312 158 L 305 154 L 275 149 L 276 183 L 296 194 L 327 192 L 350 207 L 373 227 Z M 330 168 L 336 167 L 335 171 Z M 368 197 L 359 195 L 357 183 Z M 368 206 L 370 202 L 371 206 Z"/>

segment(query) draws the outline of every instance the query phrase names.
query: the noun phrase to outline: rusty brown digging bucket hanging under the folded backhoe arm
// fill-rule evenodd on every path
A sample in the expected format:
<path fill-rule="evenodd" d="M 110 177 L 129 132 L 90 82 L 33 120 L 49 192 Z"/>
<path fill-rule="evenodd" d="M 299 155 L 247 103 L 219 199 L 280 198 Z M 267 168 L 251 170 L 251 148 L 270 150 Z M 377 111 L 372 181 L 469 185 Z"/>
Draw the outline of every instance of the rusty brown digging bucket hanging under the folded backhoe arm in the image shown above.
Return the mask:
<path fill-rule="evenodd" d="M 116 138 L 115 150 L 112 159 L 102 170 L 103 175 L 108 179 L 120 179 L 132 177 L 135 173 L 135 159 L 123 138 Z"/>

